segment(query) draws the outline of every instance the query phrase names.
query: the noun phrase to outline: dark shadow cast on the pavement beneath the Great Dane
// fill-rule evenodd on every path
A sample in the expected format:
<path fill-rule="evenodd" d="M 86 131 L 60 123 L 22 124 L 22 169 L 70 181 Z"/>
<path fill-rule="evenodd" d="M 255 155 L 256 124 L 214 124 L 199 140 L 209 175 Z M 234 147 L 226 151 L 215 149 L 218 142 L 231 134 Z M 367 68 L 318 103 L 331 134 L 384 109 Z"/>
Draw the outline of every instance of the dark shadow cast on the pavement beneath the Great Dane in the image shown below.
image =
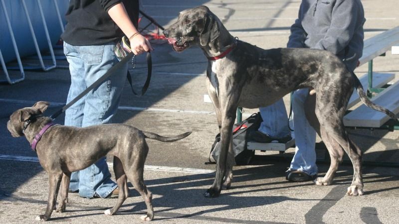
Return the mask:
<path fill-rule="evenodd" d="M 195 174 L 179 177 L 161 178 L 146 180 L 145 183 L 150 191 L 155 195 L 153 205 L 155 209 L 155 220 L 168 220 L 177 218 L 189 218 L 207 213 L 222 212 L 234 209 L 252 208 L 257 206 L 271 205 L 284 201 L 311 201 L 318 199 L 296 199 L 286 196 L 256 196 L 256 192 L 287 189 L 313 185 L 311 182 L 292 184 L 285 179 L 280 178 L 276 181 L 265 181 L 261 184 L 248 185 L 248 182 L 259 179 L 281 177 L 281 174 L 266 172 L 267 170 L 281 170 L 279 165 L 267 165 L 257 167 L 238 168 L 234 172 L 234 179 L 230 190 L 222 191 L 218 198 L 204 198 L 203 193 L 211 185 L 214 174 Z M 284 169 L 282 169 L 284 170 Z M 173 183 L 173 184 L 171 184 Z M 256 189 L 253 189 L 256 188 Z M 132 189 L 132 188 L 131 188 Z M 135 190 L 133 190 L 135 192 Z M 133 193 L 132 190 L 130 193 Z M 255 194 L 253 194 L 255 193 Z M 139 196 L 134 193 L 131 196 Z M 133 208 L 131 208 L 133 206 Z M 165 209 L 157 209 L 163 207 Z M 137 211 L 144 210 L 143 202 L 124 204 L 120 214 L 138 214 Z M 195 210 L 191 214 L 173 213 L 173 211 L 189 209 Z M 157 213 L 160 215 L 157 216 Z"/>

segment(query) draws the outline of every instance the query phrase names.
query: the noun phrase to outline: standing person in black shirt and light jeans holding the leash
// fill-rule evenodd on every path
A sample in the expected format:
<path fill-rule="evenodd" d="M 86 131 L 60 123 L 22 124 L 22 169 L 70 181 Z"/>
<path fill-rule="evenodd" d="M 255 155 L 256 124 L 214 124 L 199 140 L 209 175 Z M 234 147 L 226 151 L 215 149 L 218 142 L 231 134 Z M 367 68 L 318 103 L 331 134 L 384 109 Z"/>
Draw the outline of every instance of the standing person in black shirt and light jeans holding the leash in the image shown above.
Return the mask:
<path fill-rule="evenodd" d="M 139 0 L 70 0 L 65 15 L 67 24 L 61 35 L 71 74 L 67 103 L 118 63 L 114 46 L 122 36 L 129 38 L 136 55 L 152 50 L 137 30 L 138 15 Z M 126 74 L 127 64 L 66 110 L 64 124 L 86 127 L 112 122 Z M 73 172 L 69 191 L 79 192 L 85 198 L 117 195 L 117 185 L 111 180 L 106 158 Z"/>

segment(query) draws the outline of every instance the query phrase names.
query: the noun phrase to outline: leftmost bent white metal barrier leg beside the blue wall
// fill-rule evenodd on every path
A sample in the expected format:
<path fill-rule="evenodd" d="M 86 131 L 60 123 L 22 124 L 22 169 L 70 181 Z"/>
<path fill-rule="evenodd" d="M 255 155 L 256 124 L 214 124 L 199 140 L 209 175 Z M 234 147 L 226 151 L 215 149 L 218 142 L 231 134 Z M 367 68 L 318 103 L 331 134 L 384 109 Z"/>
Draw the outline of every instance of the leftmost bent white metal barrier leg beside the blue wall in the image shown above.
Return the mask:
<path fill-rule="evenodd" d="M 23 67 L 22 67 L 21 59 L 20 59 L 20 57 L 19 57 L 18 48 L 17 48 L 17 46 L 16 46 L 14 33 L 13 33 L 13 31 L 12 31 L 12 27 L 11 27 L 11 23 L 10 23 L 10 21 L 9 21 L 9 17 L 8 17 L 7 10 L 6 10 L 6 8 L 5 8 L 4 0 L 1 0 L 1 6 L 2 6 L 3 11 L 4 11 L 5 21 L 7 22 L 8 31 L 9 31 L 9 34 L 10 34 L 10 36 L 11 36 L 11 42 L 12 42 L 12 46 L 14 47 L 15 57 L 16 57 L 16 60 L 17 60 L 17 62 L 18 62 L 18 68 L 19 68 L 19 71 L 21 72 L 21 77 L 18 78 L 18 79 L 11 79 L 11 78 L 9 77 L 8 72 L 7 72 L 7 67 L 5 66 L 5 62 L 4 62 L 4 59 L 3 59 L 3 55 L 1 54 L 1 50 L 0 50 L 0 63 L 1 63 L 1 67 L 2 67 L 2 69 L 3 69 L 3 71 L 4 71 L 5 78 L 6 78 L 6 81 L 0 81 L 0 82 L 8 82 L 9 84 L 15 84 L 15 83 L 21 82 L 22 80 L 25 79 L 25 73 L 23 72 Z"/>

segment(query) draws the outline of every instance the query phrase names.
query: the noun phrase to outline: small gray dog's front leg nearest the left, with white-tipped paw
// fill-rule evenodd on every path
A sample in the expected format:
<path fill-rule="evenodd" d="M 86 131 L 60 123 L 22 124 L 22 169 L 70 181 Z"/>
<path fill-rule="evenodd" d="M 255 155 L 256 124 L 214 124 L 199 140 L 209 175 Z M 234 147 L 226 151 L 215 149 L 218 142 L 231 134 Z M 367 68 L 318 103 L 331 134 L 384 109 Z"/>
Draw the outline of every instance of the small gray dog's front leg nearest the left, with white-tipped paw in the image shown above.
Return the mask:
<path fill-rule="evenodd" d="M 55 209 L 55 202 L 57 200 L 58 189 L 61 183 L 62 175 L 63 173 L 61 171 L 48 173 L 49 188 L 48 188 L 47 208 L 44 215 L 36 217 L 37 221 L 47 221 L 48 219 L 50 219 L 51 213 Z"/>

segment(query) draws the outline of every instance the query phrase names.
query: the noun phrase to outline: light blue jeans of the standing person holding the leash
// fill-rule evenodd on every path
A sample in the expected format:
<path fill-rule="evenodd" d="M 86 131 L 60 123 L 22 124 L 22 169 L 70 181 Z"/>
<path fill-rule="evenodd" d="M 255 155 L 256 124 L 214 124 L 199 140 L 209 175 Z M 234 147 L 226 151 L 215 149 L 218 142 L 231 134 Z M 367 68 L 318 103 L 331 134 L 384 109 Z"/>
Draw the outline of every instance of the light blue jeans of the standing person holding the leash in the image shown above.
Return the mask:
<path fill-rule="evenodd" d="M 112 42 L 105 45 L 72 46 L 64 42 L 64 54 L 71 73 L 67 103 L 118 62 L 113 51 L 114 45 Z M 86 127 L 111 122 L 119 106 L 126 73 L 127 65 L 66 110 L 65 125 Z M 105 198 L 115 188 L 117 185 L 111 180 L 105 157 L 86 169 L 73 172 L 69 184 L 69 191 L 79 191 L 79 195 L 85 198 Z"/>

